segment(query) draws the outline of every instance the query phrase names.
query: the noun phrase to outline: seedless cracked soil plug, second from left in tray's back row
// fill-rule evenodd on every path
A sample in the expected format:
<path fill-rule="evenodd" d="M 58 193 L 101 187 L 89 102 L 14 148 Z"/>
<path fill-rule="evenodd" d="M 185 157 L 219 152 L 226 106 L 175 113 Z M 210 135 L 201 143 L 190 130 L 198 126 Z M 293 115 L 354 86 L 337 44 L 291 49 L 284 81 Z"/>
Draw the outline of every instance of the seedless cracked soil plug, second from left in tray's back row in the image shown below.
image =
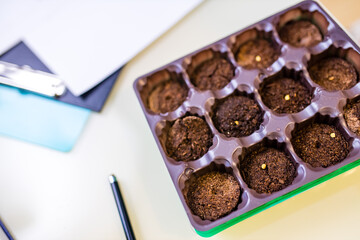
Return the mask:
<path fill-rule="evenodd" d="M 223 58 L 213 58 L 197 67 L 190 78 L 195 87 L 204 91 L 225 87 L 233 76 L 233 66 L 229 61 Z"/>

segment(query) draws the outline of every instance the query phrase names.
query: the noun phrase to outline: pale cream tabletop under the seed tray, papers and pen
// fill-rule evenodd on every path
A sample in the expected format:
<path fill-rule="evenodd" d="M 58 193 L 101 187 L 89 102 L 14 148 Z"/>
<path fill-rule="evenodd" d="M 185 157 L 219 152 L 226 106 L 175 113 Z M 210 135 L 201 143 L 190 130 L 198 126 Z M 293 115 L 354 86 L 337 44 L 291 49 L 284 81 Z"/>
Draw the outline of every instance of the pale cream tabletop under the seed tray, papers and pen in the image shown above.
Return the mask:
<path fill-rule="evenodd" d="M 91 115 L 70 153 L 0 137 L 0 216 L 16 239 L 125 239 L 110 173 L 120 182 L 138 239 L 202 239 L 187 219 L 133 81 L 293 3 L 202 3 L 125 67 L 103 112 Z M 355 168 L 211 239 L 359 239 L 359 201 Z"/>

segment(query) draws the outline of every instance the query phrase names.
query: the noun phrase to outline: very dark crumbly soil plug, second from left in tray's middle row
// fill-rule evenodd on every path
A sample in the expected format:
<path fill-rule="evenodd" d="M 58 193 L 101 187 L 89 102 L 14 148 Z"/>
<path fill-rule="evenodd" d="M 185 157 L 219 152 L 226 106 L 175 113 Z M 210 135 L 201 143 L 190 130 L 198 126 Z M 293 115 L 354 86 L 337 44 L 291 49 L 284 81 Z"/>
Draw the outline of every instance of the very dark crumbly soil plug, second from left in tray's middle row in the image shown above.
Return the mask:
<path fill-rule="evenodd" d="M 220 100 L 214 110 L 213 122 L 227 137 L 244 137 L 252 134 L 263 120 L 260 106 L 251 98 L 235 96 Z"/>

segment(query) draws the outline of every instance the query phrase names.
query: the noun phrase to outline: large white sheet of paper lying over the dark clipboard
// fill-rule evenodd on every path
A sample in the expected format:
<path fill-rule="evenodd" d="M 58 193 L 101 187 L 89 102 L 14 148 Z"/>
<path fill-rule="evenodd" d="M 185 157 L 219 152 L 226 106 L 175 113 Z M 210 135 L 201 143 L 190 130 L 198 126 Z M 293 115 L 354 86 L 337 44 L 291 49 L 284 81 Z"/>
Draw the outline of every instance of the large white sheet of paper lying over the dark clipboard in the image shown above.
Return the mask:
<path fill-rule="evenodd" d="M 27 16 L 20 18 L 27 25 L 22 30 L 25 33 L 16 31 L 14 37 L 25 40 L 73 94 L 81 95 L 129 61 L 201 0 L 30 2 L 36 6 L 30 7 L 30 13 L 23 9 Z M 14 8 L 14 4 L 8 5 Z M 29 15 L 31 19 L 26 22 Z M 9 45 L 5 42 L 0 41 L 0 50 Z"/>

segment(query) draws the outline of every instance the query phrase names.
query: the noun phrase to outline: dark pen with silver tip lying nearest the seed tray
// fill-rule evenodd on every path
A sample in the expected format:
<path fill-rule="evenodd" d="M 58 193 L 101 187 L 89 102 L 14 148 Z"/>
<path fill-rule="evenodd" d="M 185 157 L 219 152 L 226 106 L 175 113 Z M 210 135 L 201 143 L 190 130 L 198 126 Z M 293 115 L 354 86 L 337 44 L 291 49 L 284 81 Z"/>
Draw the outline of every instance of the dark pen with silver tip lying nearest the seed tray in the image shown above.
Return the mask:
<path fill-rule="evenodd" d="M 133 240 L 133 239 L 135 239 L 135 235 L 134 235 L 134 232 L 131 227 L 129 216 L 126 212 L 125 203 L 122 198 L 116 177 L 114 175 L 110 175 L 109 181 L 110 181 L 111 189 L 114 194 L 114 198 L 115 198 L 116 206 L 117 206 L 117 209 L 118 209 L 118 212 L 120 215 L 121 223 L 122 223 L 124 231 L 125 231 L 126 239 Z"/>

